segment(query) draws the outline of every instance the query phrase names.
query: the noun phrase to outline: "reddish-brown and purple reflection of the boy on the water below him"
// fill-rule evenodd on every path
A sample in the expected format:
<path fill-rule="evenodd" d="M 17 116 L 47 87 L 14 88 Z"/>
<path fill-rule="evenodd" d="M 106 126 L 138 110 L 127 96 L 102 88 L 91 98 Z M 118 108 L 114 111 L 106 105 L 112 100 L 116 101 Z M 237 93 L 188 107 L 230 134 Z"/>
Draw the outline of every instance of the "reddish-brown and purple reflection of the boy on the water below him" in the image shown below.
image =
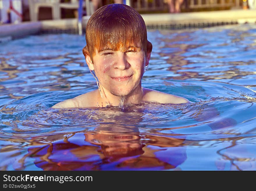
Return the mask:
<path fill-rule="evenodd" d="M 179 147 L 184 139 L 143 134 L 134 127 L 100 126 L 70 136 L 48 136 L 44 142 L 49 144 L 35 144 L 26 155 L 43 170 L 163 170 L 186 160 L 186 148 Z"/>

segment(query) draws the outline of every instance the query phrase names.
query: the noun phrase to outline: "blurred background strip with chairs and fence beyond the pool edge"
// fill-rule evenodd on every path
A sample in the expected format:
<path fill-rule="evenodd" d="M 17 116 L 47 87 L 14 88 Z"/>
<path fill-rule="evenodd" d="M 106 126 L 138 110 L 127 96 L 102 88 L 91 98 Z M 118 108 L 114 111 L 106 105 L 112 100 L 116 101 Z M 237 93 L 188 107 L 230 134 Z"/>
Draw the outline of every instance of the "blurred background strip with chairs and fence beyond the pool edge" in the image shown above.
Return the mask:
<path fill-rule="evenodd" d="M 256 0 L 82 0 L 83 16 L 106 4 L 123 3 L 141 14 L 255 9 Z M 1 24 L 78 17 L 79 0 L 0 0 Z"/>

